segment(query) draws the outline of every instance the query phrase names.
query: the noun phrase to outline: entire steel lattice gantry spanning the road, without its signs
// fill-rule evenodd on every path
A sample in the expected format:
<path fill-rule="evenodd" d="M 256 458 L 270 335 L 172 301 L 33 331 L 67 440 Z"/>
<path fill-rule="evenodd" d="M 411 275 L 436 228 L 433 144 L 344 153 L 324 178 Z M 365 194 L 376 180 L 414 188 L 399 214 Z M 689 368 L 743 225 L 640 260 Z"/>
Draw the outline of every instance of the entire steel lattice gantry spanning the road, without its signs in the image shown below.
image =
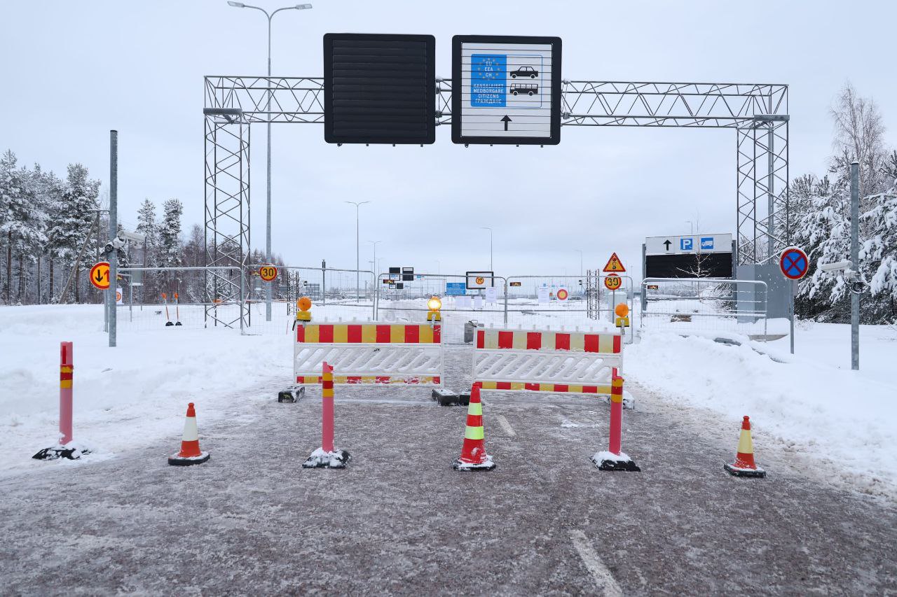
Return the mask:
<path fill-rule="evenodd" d="M 451 124 L 450 79 L 436 80 L 436 124 Z M 205 77 L 206 264 L 245 271 L 249 248 L 249 128 L 323 124 L 320 77 Z M 789 245 L 788 85 L 563 81 L 563 126 L 649 126 L 736 132 L 736 262 L 768 264 Z M 209 290 L 238 302 L 245 283 L 210 273 Z M 216 324 L 236 319 L 207 311 Z M 248 316 L 243 305 L 240 317 Z"/>

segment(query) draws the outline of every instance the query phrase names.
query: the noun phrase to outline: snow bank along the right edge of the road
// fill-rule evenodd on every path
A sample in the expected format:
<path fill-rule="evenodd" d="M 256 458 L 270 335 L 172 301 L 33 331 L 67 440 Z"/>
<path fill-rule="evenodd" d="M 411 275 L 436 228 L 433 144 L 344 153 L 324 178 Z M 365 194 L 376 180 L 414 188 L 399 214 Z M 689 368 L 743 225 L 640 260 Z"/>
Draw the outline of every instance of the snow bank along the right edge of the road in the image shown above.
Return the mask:
<path fill-rule="evenodd" d="M 847 328 L 847 326 L 841 326 Z M 831 333 L 830 328 L 823 328 Z M 849 333 L 849 332 L 848 332 Z M 805 351 L 832 353 L 840 344 Z M 842 343 L 842 342 L 841 342 Z M 897 362 L 897 342 L 879 342 L 875 361 Z M 758 345 L 757 348 L 765 348 Z M 867 350 L 872 348 L 867 345 Z M 883 354 L 884 353 L 884 354 Z M 889 355 L 889 356 L 886 356 Z M 831 461 L 858 489 L 897 493 L 897 381 L 880 371 L 837 368 L 821 359 L 774 354 L 707 338 L 645 333 L 626 349 L 626 371 L 675 404 L 717 411 L 733 421 L 746 414 L 755 428 L 789 449 Z M 785 361 L 785 362 L 776 362 Z M 733 435 L 733 446 L 736 436 Z M 882 484 L 888 486 L 882 488 Z"/>

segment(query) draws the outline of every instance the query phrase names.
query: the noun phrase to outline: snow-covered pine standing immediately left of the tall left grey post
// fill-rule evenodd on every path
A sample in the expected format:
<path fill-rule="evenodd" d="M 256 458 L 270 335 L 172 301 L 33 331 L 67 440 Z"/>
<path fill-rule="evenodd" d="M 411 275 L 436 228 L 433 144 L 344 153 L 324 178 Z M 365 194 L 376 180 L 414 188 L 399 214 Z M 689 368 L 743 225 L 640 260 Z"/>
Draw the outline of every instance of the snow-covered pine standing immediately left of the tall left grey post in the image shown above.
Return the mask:
<path fill-rule="evenodd" d="M 81 250 L 84 239 L 91 229 L 98 208 L 97 198 L 100 196 L 100 181 L 90 180 L 88 171 L 81 164 L 68 165 L 68 177 L 59 201 L 59 209 L 54 214 L 50 226 L 50 254 L 59 260 L 67 276 Z M 72 284 L 74 299 L 81 299 L 81 284 L 76 276 Z M 59 297 L 64 302 L 66 297 Z"/>

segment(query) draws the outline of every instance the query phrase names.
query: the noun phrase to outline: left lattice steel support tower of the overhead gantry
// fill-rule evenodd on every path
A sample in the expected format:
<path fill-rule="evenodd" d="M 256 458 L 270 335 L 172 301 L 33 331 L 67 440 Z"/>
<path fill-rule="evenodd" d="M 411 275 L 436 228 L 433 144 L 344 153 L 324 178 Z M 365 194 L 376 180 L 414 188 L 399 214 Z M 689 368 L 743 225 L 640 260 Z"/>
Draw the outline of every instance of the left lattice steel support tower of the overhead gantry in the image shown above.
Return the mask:
<path fill-rule="evenodd" d="M 205 322 L 249 323 L 249 125 L 239 118 L 205 117 L 205 264 L 239 267 L 206 272 Z M 234 313 L 229 306 L 236 305 Z"/>

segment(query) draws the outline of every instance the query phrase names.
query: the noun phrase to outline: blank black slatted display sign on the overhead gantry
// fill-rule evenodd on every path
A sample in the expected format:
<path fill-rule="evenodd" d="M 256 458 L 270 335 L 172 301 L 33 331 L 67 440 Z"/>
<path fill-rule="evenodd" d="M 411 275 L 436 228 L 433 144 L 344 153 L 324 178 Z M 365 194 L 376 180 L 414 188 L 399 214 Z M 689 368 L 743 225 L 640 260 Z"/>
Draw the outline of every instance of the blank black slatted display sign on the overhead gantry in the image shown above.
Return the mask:
<path fill-rule="evenodd" d="M 327 33 L 327 143 L 433 143 L 436 38 Z"/>

